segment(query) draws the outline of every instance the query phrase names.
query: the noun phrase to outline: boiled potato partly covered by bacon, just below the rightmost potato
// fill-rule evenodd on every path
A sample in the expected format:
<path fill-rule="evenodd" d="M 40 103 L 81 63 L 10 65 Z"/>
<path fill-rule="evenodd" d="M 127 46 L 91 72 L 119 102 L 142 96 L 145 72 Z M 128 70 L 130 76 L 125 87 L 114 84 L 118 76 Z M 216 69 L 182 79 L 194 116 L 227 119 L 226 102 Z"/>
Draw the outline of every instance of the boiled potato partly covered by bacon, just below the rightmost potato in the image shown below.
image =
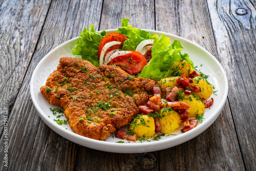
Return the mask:
<path fill-rule="evenodd" d="M 183 101 L 190 105 L 190 108 L 188 110 L 190 111 L 189 114 L 187 114 L 188 118 L 196 117 L 196 115 L 201 115 L 204 113 L 204 104 L 201 102 L 200 99 L 197 99 L 193 95 L 186 95 L 184 94 L 183 99 L 179 99 L 179 101 Z"/>

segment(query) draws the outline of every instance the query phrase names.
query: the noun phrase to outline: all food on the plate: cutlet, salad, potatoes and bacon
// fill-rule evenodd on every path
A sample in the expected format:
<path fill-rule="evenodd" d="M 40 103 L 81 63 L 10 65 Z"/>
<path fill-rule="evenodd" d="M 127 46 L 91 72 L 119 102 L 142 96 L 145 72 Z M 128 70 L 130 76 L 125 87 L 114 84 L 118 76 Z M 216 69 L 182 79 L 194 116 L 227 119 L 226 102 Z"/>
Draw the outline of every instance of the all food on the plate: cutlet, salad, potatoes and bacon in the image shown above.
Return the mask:
<path fill-rule="evenodd" d="M 75 133 L 97 140 L 116 131 L 117 138 L 142 142 L 168 135 L 181 124 L 182 133 L 194 129 L 214 103 L 208 76 L 181 53 L 180 41 L 170 44 L 164 34 L 152 36 L 132 28 L 129 19 L 121 22 L 117 32 L 108 34 L 93 25 L 85 28 L 72 52 L 83 64 L 61 58 L 41 93 L 64 110 L 69 119 L 64 122 Z M 108 108 L 99 107 L 99 101 Z M 120 129 L 127 124 L 129 130 Z"/>

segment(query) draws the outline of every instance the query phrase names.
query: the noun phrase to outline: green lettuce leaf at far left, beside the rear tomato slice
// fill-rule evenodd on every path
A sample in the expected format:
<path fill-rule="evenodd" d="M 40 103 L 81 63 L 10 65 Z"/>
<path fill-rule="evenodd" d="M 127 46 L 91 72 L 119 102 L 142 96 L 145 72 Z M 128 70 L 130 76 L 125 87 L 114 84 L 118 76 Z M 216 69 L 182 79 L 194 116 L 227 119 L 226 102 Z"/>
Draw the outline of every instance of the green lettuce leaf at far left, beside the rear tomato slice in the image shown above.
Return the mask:
<path fill-rule="evenodd" d="M 89 30 L 90 29 L 90 30 Z M 99 67 L 98 48 L 105 31 L 98 33 L 94 30 L 93 25 L 89 29 L 84 28 L 81 32 L 75 47 L 73 48 L 73 55 L 81 55 L 82 59 L 90 61 L 94 66 Z"/>

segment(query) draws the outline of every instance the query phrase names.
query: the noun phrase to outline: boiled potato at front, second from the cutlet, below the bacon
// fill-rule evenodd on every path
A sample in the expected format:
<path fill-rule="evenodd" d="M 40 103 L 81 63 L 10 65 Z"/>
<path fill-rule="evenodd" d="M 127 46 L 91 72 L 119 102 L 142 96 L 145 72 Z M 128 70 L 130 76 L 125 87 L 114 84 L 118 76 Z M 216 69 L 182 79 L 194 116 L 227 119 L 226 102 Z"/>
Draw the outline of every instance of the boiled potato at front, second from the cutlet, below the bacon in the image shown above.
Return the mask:
<path fill-rule="evenodd" d="M 175 129 L 180 127 L 181 118 L 175 111 L 161 112 L 162 118 L 159 119 L 159 123 L 162 127 L 162 134 L 169 134 Z"/>

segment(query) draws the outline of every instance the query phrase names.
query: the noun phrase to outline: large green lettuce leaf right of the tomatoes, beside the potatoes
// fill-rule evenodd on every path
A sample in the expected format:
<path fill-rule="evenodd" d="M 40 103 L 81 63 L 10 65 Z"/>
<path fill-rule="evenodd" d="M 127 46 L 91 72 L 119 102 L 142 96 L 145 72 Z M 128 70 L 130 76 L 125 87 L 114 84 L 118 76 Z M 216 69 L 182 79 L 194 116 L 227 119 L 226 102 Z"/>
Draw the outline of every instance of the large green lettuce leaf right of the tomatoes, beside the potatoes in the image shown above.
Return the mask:
<path fill-rule="evenodd" d="M 164 34 L 160 38 L 157 35 L 155 36 L 152 59 L 147 63 L 138 77 L 153 78 L 156 80 L 166 78 L 169 76 L 170 68 L 174 61 L 188 59 L 187 53 L 181 54 L 183 47 L 180 41 L 174 40 L 173 44 L 170 45 L 170 39 Z M 190 63 L 192 61 L 189 59 L 188 62 Z"/>

